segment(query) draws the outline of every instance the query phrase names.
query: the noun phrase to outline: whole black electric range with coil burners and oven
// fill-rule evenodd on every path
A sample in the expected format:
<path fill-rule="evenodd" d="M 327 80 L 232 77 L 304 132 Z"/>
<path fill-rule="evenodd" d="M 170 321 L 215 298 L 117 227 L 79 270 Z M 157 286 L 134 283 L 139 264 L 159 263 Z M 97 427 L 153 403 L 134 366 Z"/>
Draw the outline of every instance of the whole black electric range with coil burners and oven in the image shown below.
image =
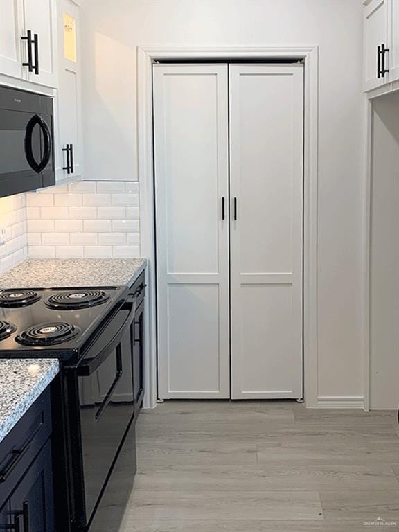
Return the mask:
<path fill-rule="evenodd" d="M 0 358 L 60 360 L 53 384 L 60 532 L 89 529 L 126 439 L 136 461 L 134 317 L 145 292 L 138 283 L 0 290 Z"/>

